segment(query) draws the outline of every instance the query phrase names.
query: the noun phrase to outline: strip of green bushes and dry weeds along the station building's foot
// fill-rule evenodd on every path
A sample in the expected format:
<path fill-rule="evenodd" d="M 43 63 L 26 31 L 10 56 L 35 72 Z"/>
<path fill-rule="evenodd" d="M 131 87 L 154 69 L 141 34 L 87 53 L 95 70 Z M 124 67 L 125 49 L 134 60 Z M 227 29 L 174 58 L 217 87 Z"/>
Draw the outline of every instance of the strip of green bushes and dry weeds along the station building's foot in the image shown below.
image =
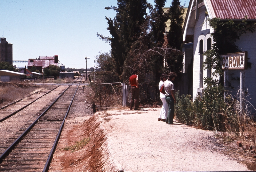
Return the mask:
<path fill-rule="evenodd" d="M 176 120 L 201 129 L 214 130 L 215 137 L 226 143 L 240 140 L 244 146 L 252 145 L 253 154 L 256 155 L 255 114 L 250 110 L 254 107 L 245 97 L 241 109 L 239 90 L 236 97 L 228 95 L 224 101 L 222 86 L 216 81 L 211 82 L 212 85 L 205 88 L 203 96 L 196 97 L 194 102 L 190 101 L 189 96 L 176 94 Z"/>

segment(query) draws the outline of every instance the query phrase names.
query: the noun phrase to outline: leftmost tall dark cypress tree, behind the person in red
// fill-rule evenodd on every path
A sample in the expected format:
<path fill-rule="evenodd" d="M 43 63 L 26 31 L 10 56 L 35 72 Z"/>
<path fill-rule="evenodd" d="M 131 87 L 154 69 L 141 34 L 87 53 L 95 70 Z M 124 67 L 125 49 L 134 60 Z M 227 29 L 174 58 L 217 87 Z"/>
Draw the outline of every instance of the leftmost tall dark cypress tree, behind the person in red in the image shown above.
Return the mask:
<path fill-rule="evenodd" d="M 107 18 L 108 30 L 112 37 L 101 39 L 110 42 L 111 51 L 116 61 L 116 71 L 118 75 L 123 73 L 124 61 L 131 49 L 132 43 L 136 41 L 134 36 L 140 35 L 140 26 L 145 22 L 147 1 L 146 0 L 117 0 L 117 7 L 106 7 L 107 10 L 115 10 L 114 19 Z"/>

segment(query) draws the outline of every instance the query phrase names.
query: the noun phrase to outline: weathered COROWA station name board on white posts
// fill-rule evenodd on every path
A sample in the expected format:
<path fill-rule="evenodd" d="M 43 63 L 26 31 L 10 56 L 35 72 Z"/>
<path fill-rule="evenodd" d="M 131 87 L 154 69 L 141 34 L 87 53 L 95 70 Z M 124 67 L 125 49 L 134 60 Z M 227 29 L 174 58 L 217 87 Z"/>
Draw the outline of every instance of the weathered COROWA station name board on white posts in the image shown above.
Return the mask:
<path fill-rule="evenodd" d="M 222 69 L 247 69 L 247 51 L 220 55 Z"/>

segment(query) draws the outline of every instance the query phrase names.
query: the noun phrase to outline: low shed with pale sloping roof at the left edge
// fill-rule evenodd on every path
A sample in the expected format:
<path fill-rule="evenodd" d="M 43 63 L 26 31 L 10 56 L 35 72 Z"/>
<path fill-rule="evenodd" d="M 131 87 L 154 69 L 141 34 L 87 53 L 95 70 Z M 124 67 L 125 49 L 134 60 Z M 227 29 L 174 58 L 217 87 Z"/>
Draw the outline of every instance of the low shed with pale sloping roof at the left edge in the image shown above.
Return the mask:
<path fill-rule="evenodd" d="M 10 81 L 20 81 L 21 78 L 26 76 L 20 72 L 13 72 L 10 70 L 0 70 L 0 81 L 10 82 Z"/>

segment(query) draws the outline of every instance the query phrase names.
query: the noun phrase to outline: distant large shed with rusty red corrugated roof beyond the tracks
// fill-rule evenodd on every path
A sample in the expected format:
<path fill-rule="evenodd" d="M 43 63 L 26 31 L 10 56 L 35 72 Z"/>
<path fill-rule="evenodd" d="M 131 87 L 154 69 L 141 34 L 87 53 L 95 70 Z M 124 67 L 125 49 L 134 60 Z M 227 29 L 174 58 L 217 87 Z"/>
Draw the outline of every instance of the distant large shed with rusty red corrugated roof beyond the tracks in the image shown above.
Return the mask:
<path fill-rule="evenodd" d="M 58 55 L 54 56 L 39 56 L 37 59 L 28 59 L 28 69 L 31 69 L 33 66 L 42 73 L 42 68 L 48 68 L 50 65 L 58 66 L 59 57 Z"/>

